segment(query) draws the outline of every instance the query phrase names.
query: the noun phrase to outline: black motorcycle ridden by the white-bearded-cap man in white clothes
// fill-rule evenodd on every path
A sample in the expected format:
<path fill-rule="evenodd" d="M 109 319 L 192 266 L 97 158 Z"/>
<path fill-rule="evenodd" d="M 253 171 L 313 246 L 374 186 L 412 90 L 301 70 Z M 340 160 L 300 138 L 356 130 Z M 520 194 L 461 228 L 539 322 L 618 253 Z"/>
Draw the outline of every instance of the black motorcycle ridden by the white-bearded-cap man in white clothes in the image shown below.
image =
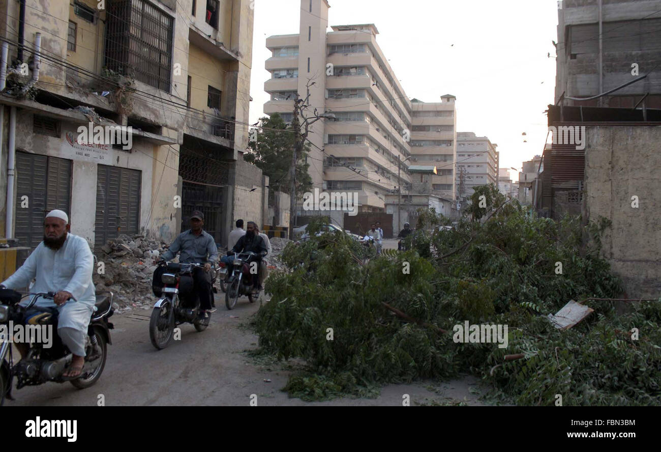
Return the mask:
<path fill-rule="evenodd" d="M 22 298 L 30 295 L 32 298 L 26 306 L 19 304 Z M 112 344 L 110 330 L 113 326 L 108 322 L 108 318 L 113 314 L 112 292 L 97 293 L 96 310 L 91 315 L 87 336 L 85 336 L 85 364 L 80 377 L 75 379 L 62 376 L 71 363 L 73 355 L 57 334 L 59 312 L 55 307 L 35 306 L 36 300 L 40 296 L 52 300 L 55 293 L 21 294 L 11 289 L 0 289 L 0 326 L 4 325 L 5 328 L 9 328 L 9 322 L 13 322 L 14 328 L 17 325 L 23 325 L 27 331 L 34 331 L 37 328 L 46 327 L 52 332 L 50 347 L 45 347 L 46 344 L 42 342 L 32 342 L 27 355 L 16 364 L 13 363 L 10 341 L 2 341 L 0 345 L 0 405 L 4 403 L 5 397 L 13 400 L 11 388 L 14 377 L 17 378 L 17 389 L 23 386 L 44 384 L 48 381 L 55 383 L 69 381 L 76 388 L 84 389 L 97 383 L 106 365 L 107 345 Z M 77 302 L 73 296 L 70 299 Z M 34 336 L 39 337 L 40 334 L 37 332 Z"/>

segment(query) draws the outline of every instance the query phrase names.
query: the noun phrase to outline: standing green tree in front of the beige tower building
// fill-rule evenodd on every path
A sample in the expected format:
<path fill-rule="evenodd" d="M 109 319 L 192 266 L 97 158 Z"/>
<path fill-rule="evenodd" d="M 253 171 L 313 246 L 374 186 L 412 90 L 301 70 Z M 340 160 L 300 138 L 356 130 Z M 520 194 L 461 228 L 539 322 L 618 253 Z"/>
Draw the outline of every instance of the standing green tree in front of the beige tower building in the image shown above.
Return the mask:
<path fill-rule="evenodd" d="M 295 134 L 290 124 L 286 124 L 282 116 L 274 113 L 270 118 L 260 118 L 256 133 L 249 134 L 248 150 L 243 159 L 253 163 L 269 177 L 272 187 L 280 187 L 280 191 L 290 192 L 290 162 L 295 142 Z M 306 163 L 309 154 L 309 144 L 303 146 L 303 153 L 297 156 L 296 191 L 305 193 L 312 189 L 312 178 L 307 172 L 310 166 Z"/>

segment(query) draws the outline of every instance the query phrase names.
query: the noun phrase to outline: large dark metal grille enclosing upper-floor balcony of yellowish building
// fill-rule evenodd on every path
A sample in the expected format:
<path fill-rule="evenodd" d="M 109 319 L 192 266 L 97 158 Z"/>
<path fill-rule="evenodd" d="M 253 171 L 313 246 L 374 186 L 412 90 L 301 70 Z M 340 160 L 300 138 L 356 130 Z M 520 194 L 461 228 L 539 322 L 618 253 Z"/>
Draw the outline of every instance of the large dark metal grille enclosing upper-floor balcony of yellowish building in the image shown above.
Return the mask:
<path fill-rule="evenodd" d="M 107 6 L 106 68 L 170 91 L 173 18 L 144 0 Z"/>

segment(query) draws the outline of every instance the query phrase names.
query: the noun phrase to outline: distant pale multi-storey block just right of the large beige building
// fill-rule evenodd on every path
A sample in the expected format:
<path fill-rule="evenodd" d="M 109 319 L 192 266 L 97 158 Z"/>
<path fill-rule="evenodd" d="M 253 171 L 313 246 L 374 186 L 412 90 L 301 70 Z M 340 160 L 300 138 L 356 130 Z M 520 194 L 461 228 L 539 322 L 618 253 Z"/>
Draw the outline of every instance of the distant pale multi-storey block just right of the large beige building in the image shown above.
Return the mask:
<path fill-rule="evenodd" d="M 474 132 L 457 133 L 457 199 L 469 199 L 475 187 L 492 183 L 498 187 L 498 144 Z"/>

